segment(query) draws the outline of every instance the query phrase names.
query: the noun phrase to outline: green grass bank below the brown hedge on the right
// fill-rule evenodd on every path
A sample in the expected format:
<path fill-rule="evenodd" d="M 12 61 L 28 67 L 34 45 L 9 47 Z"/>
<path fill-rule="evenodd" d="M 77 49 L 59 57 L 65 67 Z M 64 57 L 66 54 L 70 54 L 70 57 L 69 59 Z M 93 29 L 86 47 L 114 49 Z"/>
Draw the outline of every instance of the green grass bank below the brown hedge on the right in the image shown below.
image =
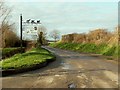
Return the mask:
<path fill-rule="evenodd" d="M 51 47 L 57 47 L 66 50 L 73 50 L 77 52 L 84 52 L 84 53 L 96 53 L 102 54 L 106 56 L 113 56 L 113 57 L 120 57 L 120 46 L 109 46 L 107 44 L 99 44 L 96 45 L 94 43 L 52 43 L 50 44 Z"/>

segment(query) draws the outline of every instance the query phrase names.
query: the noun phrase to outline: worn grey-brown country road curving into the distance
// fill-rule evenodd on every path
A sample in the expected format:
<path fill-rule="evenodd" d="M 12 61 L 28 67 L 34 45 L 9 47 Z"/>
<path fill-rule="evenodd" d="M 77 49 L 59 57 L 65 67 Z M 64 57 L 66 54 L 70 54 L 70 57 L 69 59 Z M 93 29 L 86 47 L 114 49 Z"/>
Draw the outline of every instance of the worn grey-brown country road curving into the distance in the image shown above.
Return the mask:
<path fill-rule="evenodd" d="M 118 65 L 103 57 L 44 47 L 55 53 L 48 66 L 2 78 L 3 88 L 118 88 Z"/>

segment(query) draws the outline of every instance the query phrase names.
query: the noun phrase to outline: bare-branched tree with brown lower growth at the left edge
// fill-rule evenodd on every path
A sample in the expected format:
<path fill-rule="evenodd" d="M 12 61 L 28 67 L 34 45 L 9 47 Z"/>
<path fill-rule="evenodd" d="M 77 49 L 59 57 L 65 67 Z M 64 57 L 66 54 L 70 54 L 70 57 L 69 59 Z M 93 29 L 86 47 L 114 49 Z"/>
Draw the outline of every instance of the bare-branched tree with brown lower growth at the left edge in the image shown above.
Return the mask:
<path fill-rule="evenodd" d="M 9 16 L 11 8 L 5 5 L 4 0 L 0 0 L 0 47 L 5 47 L 8 42 L 13 44 L 13 41 L 18 39 L 16 34 L 13 32 L 15 30 L 14 23 L 9 22 Z M 7 42 L 8 41 L 8 42 Z"/>

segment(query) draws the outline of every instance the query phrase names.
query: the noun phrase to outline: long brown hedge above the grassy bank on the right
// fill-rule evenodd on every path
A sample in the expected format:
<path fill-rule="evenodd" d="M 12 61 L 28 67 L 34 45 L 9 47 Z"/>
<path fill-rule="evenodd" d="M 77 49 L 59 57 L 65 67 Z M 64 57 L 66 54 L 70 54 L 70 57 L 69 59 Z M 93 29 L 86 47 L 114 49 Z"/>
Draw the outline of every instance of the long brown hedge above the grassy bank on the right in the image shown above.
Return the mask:
<path fill-rule="evenodd" d="M 107 42 L 106 42 L 107 41 Z M 67 34 L 62 36 L 62 42 L 66 43 L 94 43 L 115 44 L 118 41 L 118 32 L 109 32 L 106 29 L 96 29 L 88 34 Z"/>

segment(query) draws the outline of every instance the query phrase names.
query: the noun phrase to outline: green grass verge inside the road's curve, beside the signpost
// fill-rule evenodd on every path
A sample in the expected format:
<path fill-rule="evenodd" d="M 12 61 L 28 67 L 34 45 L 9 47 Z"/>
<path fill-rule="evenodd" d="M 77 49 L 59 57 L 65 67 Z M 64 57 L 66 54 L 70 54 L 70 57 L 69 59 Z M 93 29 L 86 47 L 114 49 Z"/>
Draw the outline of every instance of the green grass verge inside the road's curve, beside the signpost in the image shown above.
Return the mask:
<path fill-rule="evenodd" d="M 0 61 L 0 67 L 3 70 L 7 69 L 22 69 L 27 67 L 33 67 L 36 64 L 46 62 L 54 56 L 43 48 L 33 48 L 23 54 L 16 54 L 11 58 Z"/>

